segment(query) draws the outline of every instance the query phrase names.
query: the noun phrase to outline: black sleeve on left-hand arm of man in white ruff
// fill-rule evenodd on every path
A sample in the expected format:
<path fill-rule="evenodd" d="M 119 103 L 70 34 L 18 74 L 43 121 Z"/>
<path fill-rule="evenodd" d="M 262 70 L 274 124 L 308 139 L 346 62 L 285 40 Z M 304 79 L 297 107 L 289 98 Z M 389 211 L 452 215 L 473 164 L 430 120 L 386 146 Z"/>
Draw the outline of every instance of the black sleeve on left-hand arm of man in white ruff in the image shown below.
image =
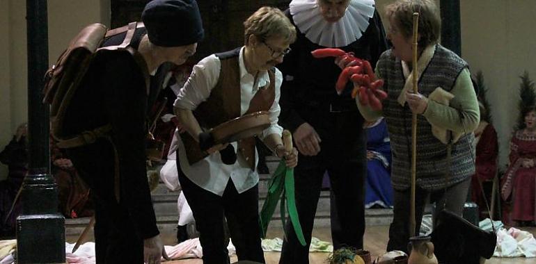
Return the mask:
<path fill-rule="evenodd" d="M 292 22 L 292 16 L 290 11 L 285 10 L 285 15 L 289 17 Z M 292 22 L 294 23 L 294 22 Z M 298 31 L 298 29 L 296 28 Z M 283 58 L 283 63 L 277 65 L 277 68 L 281 70 L 283 74 L 283 83 L 281 84 L 281 98 L 279 99 L 279 106 L 281 106 L 281 113 L 279 114 L 279 124 L 283 128 L 290 130 L 292 133 L 296 131 L 298 126 L 304 124 L 304 119 L 300 117 L 296 110 L 296 104 L 294 104 L 297 99 L 295 94 L 296 90 L 299 89 L 299 85 L 295 85 L 293 79 L 296 76 L 295 70 L 299 64 L 299 47 L 298 40 L 290 45 L 292 51 L 288 53 L 285 58 Z"/>

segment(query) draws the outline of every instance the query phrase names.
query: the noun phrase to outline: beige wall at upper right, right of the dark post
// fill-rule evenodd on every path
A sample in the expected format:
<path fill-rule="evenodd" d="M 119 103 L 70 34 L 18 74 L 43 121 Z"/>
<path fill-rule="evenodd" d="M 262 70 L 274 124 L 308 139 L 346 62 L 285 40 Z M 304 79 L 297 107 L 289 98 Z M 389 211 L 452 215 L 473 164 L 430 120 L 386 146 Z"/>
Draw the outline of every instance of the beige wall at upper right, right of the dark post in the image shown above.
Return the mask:
<path fill-rule="evenodd" d="M 484 74 L 499 138 L 499 165 L 505 167 L 519 115 L 519 75 L 526 70 L 536 81 L 536 1 L 461 2 L 462 55 L 473 73 Z"/>

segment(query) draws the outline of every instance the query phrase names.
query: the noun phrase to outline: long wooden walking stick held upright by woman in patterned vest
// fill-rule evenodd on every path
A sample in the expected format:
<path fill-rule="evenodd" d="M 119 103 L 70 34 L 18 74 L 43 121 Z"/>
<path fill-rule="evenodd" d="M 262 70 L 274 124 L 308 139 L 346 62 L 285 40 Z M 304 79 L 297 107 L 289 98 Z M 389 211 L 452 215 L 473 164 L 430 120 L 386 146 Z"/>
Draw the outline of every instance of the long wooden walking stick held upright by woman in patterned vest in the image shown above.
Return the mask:
<path fill-rule="evenodd" d="M 417 49 L 418 49 L 418 24 L 419 13 L 413 13 L 413 93 L 417 93 Z M 416 220 L 415 220 L 415 189 L 416 189 L 416 174 L 417 174 L 417 114 L 411 116 L 411 204 L 409 209 L 409 234 L 416 236 Z"/>

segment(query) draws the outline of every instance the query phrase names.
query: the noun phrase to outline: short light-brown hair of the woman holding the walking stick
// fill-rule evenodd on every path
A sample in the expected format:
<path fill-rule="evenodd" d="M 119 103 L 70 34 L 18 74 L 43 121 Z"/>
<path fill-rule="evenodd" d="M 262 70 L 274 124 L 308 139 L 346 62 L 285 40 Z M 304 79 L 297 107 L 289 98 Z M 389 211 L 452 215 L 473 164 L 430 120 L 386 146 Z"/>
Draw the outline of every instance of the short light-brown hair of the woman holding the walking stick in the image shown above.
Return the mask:
<path fill-rule="evenodd" d="M 419 13 L 418 46 L 424 48 L 436 44 L 441 34 L 441 17 L 433 0 L 398 0 L 385 8 L 386 17 L 396 23 L 405 38 L 413 33 L 415 12 Z"/>

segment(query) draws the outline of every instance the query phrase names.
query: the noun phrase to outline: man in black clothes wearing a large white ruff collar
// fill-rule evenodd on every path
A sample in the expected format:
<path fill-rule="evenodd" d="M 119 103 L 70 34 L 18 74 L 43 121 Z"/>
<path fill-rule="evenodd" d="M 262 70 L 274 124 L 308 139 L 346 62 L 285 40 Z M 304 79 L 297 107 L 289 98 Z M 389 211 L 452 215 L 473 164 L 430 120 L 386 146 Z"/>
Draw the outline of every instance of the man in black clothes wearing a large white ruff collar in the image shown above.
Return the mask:
<path fill-rule="evenodd" d="M 365 232 L 366 139 L 352 87 L 337 95 L 341 72 L 333 58 L 311 51 L 337 47 L 375 65 L 387 49 L 384 28 L 372 0 L 294 0 L 286 11 L 297 41 L 280 69 L 280 124 L 292 131 L 300 163 L 294 170 L 296 204 L 307 245 L 291 224 L 280 263 L 308 263 L 313 222 L 324 172 L 331 182 L 331 236 L 335 249 L 363 247 Z"/>

